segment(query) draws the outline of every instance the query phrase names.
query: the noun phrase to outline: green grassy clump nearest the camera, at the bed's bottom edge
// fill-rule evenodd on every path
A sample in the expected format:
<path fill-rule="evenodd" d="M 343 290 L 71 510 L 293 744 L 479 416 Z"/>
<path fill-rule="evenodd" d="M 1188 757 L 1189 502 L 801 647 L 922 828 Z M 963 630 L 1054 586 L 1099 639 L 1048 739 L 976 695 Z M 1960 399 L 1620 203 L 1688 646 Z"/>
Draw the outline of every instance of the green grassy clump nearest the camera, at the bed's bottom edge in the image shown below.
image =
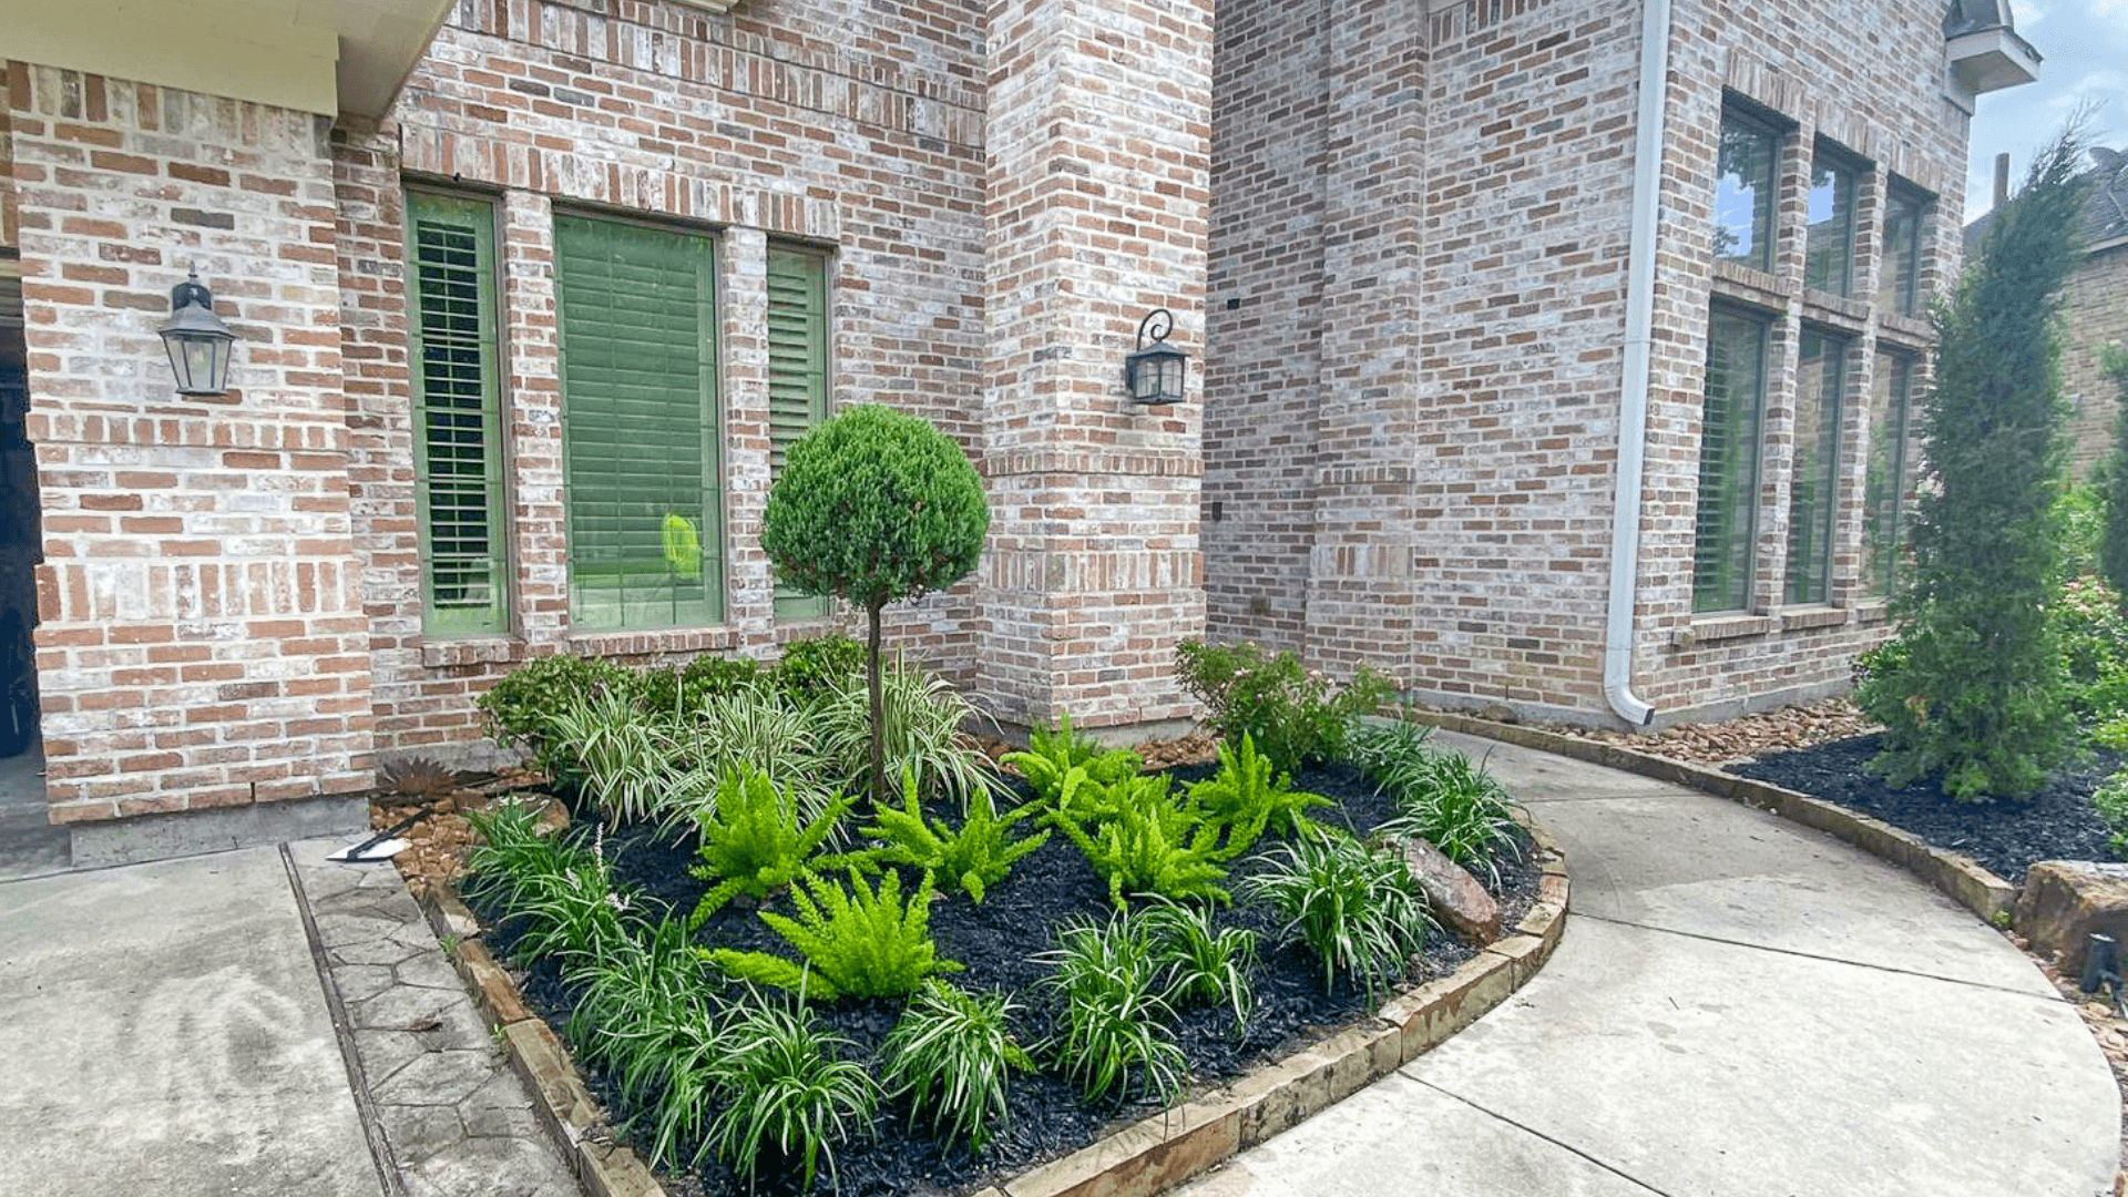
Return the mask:
<path fill-rule="evenodd" d="M 711 1071 L 724 1110 L 702 1137 L 751 1188 L 762 1165 L 770 1176 L 802 1169 L 802 1188 L 834 1144 L 868 1131 L 879 1110 L 879 1082 L 853 1059 L 855 1044 L 821 1031 L 804 1001 L 764 1003 L 755 995 L 730 1018 L 719 1037 L 724 1059 Z"/>

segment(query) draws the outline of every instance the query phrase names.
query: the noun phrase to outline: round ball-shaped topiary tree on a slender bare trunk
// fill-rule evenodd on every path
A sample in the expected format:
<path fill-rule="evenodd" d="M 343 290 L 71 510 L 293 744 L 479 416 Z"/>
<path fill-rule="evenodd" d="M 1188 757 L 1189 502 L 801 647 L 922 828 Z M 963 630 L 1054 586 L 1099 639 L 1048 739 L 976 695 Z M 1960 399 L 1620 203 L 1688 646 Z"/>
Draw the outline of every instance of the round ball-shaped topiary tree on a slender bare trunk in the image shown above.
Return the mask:
<path fill-rule="evenodd" d="M 949 437 L 877 403 L 849 407 L 789 447 L 768 490 L 762 550 L 807 594 L 864 607 L 872 797 L 887 801 L 879 611 L 975 571 L 990 532 L 983 479 Z"/>

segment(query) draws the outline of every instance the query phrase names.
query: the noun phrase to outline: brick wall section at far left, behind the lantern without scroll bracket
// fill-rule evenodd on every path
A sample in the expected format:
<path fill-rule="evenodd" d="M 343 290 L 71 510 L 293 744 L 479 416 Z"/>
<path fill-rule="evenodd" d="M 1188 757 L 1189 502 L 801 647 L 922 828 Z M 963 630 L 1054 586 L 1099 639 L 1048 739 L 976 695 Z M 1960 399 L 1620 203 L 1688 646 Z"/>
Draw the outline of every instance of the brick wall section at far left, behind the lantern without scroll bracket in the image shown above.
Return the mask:
<path fill-rule="evenodd" d="M 51 818 L 366 788 L 326 121 L 19 62 L 6 106 Z M 189 264 L 223 398 L 179 398 L 155 334 Z"/>

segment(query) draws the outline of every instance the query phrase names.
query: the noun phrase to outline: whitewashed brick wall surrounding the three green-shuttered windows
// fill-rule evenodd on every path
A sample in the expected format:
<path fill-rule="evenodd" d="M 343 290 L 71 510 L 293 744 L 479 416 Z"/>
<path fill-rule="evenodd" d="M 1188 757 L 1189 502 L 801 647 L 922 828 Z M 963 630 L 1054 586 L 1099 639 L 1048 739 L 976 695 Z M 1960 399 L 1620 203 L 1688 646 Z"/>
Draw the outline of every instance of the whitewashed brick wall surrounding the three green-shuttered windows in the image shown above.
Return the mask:
<path fill-rule="evenodd" d="M 981 17 L 955 4 L 466 0 L 377 130 L 334 162 L 355 405 L 351 490 L 381 754 L 479 756 L 472 701 L 536 654 L 768 656 L 847 626 L 777 624 L 768 494 L 766 239 L 834 247 L 832 403 L 915 411 L 981 458 Z M 496 196 L 513 628 L 426 637 L 406 377 L 402 179 Z M 553 209 L 717 234 L 726 622 L 568 626 Z M 890 645 L 968 679 L 975 584 L 890 609 Z"/>

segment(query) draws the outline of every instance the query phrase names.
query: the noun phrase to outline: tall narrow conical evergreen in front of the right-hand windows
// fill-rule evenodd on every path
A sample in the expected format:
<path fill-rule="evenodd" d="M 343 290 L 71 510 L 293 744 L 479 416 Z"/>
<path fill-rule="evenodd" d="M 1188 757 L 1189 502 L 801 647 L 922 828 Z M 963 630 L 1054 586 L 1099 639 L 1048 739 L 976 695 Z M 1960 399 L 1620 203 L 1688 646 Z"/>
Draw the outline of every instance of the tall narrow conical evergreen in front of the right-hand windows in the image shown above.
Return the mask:
<path fill-rule="evenodd" d="M 2077 153 L 2075 126 L 2041 149 L 1932 313 L 1913 571 L 1894 598 L 1907 624 L 1856 690 L 1885 724 L 1868 769 L 1894 786 L 1941 773 L 1960 801 L 2030 797 L 2075 750 L 2049 607 L 2066 415 L 2056 311 L 2077 262 Z"/>

